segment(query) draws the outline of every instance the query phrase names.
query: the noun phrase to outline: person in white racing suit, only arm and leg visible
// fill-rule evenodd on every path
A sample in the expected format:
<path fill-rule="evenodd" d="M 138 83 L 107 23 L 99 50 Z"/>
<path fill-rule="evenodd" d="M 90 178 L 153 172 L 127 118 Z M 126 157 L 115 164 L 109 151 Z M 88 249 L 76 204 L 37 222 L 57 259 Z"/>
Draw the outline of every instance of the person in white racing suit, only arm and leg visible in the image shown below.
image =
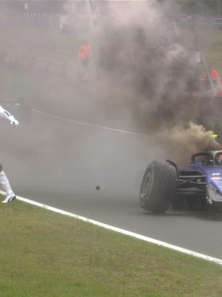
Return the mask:
<path fill-rule="evenodd" d="M 3 109 L 1 106 L 0 106 L 0 117 L 5 120 L 8 120 L 11 123 L 11 125 L 15 127 L 19 125 L 19 122 L 13 117 L 13 115 L 11 115 L 7 110 Z M 8 203 L 16 199 L 16 196 L 10 187 L 8 179 L 2 170 L 1 164 L 0 164 L 0 186 L 6 193 L 6 198 L 3 201 L 1 201 L 2 203 Z"/>

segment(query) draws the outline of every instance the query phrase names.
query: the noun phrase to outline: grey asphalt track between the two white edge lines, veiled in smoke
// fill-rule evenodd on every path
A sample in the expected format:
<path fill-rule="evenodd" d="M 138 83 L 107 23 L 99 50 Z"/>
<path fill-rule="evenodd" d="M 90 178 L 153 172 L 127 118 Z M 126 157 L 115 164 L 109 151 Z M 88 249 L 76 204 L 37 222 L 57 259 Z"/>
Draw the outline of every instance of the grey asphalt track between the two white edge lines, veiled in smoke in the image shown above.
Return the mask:
<path fill-rule="evenodd" d="M 222 259 L 222 214 L 140 208 L 143 173 L 158 156 L 149 138 L 37 113 L 16 129 L 2 122 L 1 163 L 17 195 Z"/>

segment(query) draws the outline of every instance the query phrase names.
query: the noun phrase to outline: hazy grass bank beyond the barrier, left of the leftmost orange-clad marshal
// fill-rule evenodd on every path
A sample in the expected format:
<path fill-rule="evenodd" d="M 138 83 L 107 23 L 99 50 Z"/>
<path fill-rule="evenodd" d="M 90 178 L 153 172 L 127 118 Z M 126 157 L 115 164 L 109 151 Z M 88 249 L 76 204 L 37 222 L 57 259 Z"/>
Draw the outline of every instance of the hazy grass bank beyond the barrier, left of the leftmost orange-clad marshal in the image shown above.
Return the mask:
<path fill-rule="evenodd" d="M 78 49 L 84 36 L 60 34 L 58 30 L 5 27 L 0 30 L 1 49 L 62 63 L 79 60 Z"/>

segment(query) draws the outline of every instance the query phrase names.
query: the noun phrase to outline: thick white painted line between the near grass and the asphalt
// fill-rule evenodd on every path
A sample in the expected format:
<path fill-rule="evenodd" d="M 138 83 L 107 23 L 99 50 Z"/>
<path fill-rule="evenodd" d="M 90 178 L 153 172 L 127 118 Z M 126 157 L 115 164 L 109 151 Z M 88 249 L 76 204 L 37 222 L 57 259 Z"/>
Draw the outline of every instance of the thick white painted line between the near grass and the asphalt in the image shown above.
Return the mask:
<path fill-rule="evenodd" d="M 4 195 L 5 193 L 0 191 L 0 194 Z M 115 231 L 115 232 L 118 232 L 118 233 L 121 233 L 121 234 L 125 234 L 125 235 L 128 235 L 128 236 L 134 237 L 134 238 L 138 238 L 138 239 L 146 241 L 148 243 L 156 244 L 156 245 L 161 246 L 161 247 L 168 247 L 168 248 L 183 252 L 185 254 L 192 255 L 194 257 L 201 258 L 201 259 L 211 261 L 211 262 L 215 262 L 217 264 L 222 265 L 222 259 L 214 258 L 214 257 L 208 256 L 208 255 L 205 255 L 205 254 L 193 251 L 193 250 L 189 250 L 189 249 L 186 249 L 186 248 L 183 248 L 183 247 L 173 246 L 171 244 L 164 243 L 162 241 L 159 241 L 159 240 L 156 240 L 156 239 L 153 239 L 153 238 L 150 238 L 150 237 L 146 237 L 144 235 L 140 235 L 140 234 L 137 234 L 137 233 L 133 233 L 133 232 L 124 230 L 124 229 L 120 229 L 120 228 L 116 228 L 116 227 L 113 227 L 113 226 L 110 226 L 110 225 L 107 225 L 107 224 L 104 224 L 104 223 L 100 223 L 100 222 L 97 222 L 97 221 L 94 221 L 94 220 L 79 216 L 77 214 L 67 212 L 67 211 L 52 207 L 52 206 L 48 206 L 48 205 L 45 205 L 45 204 L 30 200 L 30 199 L 27 199 L 27 198 L 23 198 L 23 197 L 19 197 L 19 196 L 16 196 L 16 197 L 17 197 L 18 200 L 21 200 L 21 201 L 24 201 L 26 203 L 36 205 L 38 207 L 42 207 L 42 208 L 45 208 L 45 209 L 48 209 L 48 210 L 51 210 L 51 211 L 54 211 L 54 212 L 57 212 L 57 213 L 60 213 L 60 214 L 64 214 L 64 215 L 73 217 L 75 219 L 78 219 L 78 220 L 81 220 L 81 221 L 84 221 L 84 222 L 87 222 L 87 223 L 90 223 L 90 224 L 93 224 L 93 225 L 96 225 L 96 226 L 99 226 L 99 227 L 103 227 L 103 228 L 106 228 L 106 229 L 109 229 L 109 230 L 112 230 L 112 231 Z"/>

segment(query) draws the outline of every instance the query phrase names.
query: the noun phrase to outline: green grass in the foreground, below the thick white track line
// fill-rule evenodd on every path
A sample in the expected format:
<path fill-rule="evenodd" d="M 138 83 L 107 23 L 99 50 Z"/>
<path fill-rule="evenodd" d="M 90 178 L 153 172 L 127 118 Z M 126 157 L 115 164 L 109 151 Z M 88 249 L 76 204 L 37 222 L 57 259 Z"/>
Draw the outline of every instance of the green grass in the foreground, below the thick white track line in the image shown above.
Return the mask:
<path fill-rule="evenodd" d="M 19 200 L 0 226 L 1 297 L 222 296 L 218 264 Z"/>

